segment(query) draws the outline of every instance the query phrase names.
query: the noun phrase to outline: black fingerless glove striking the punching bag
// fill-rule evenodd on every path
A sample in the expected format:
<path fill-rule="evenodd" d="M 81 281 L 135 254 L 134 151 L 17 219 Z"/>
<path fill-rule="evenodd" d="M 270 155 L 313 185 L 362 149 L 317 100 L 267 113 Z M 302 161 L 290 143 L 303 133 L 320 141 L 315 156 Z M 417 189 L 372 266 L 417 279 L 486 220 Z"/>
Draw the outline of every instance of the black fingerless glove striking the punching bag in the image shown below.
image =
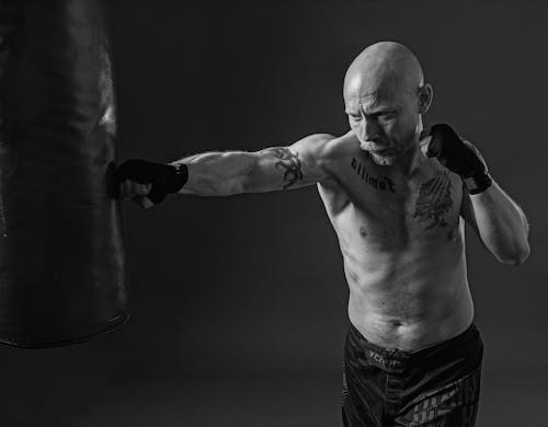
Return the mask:
<path fill-rule="evenodd" d="M 116 170 L 114 180 L 116 188 L 126 180 L 150 184 L 150 193 L 146 197 L 159 204 L 168 194 L 178 193 L 184 186 L 189 180 L 189 168 L 184 163 L 162 164 L 132 159 Z"/>

